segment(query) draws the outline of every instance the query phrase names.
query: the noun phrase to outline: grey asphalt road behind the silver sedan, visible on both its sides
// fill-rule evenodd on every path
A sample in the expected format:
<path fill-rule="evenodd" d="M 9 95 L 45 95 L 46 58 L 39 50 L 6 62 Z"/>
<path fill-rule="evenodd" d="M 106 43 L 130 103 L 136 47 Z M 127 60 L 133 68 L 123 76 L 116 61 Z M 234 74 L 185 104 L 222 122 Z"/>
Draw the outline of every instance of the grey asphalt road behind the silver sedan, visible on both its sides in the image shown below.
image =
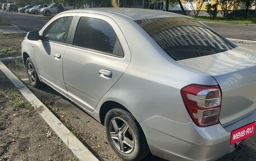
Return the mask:
<path fill-rule="evenodd" d="M 21 30 L 31 31 L 40 30 L 52 17 L 43 15 L 30 15 L 26 13 L 0 11 L 0 19 L 11 24 L 17 25 Z M 204 24 L 216 30 L 226 38 L 254 40 L 256 41 L 255 25 L 221 24 L 204 22 Z"/>

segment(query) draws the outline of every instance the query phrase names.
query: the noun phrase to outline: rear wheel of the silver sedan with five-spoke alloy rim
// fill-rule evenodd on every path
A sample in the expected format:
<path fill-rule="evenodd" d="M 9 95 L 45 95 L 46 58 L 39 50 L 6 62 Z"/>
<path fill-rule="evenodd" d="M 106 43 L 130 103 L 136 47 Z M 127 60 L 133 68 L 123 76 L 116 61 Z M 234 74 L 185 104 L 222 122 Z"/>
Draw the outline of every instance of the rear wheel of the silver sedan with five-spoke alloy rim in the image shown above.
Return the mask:
<path fill-rule="evenodd" d="M 130 112 L 111 109 L 105 117 L 109 145 L 126 161 L 141 160 L 149 154 L 144 132 Z"/>

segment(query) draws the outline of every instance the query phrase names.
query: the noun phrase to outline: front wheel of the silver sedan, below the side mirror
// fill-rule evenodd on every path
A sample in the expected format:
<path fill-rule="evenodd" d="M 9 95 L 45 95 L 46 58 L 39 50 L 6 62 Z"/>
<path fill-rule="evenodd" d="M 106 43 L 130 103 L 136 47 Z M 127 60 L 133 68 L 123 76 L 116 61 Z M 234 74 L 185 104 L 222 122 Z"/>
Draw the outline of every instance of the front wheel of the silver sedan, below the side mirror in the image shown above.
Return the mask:
<path fill-rule="evenodd" d="M 26 59 L 26 71 L 29 77 L 30 84 L 34 86 L 34 88 L 39 88 L 42 85 L 38 78 L 38 74 L 36 73 L 35 66 L 31 61 L 31 58 Z"/>

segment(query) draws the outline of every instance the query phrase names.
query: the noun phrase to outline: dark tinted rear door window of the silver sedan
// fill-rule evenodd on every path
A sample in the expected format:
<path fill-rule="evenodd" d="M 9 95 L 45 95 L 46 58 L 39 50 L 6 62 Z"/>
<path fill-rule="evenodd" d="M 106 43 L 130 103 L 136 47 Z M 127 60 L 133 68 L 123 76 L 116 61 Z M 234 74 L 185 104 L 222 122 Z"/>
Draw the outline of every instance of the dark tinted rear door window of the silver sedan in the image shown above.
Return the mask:
<path fill-rule="evenodd" d="M 76 28 L 73 45 L 124 57 L 121 44 L 108 22 L 81 17 Z"/>

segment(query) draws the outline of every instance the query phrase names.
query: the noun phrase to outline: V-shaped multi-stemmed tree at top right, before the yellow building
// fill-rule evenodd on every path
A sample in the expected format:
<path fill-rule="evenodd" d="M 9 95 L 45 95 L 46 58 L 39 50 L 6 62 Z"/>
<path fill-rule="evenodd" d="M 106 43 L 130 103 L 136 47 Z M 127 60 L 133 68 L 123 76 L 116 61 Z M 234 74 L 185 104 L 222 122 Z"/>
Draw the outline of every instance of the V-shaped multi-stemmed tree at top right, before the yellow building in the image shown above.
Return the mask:
<path fill-rule="evenodd" d="M 221 5 L 221 10 L 223 11 L 224 17 L 231 16 L 242 3 L 243 0 L 217 0 L 217 3 Z"/>

